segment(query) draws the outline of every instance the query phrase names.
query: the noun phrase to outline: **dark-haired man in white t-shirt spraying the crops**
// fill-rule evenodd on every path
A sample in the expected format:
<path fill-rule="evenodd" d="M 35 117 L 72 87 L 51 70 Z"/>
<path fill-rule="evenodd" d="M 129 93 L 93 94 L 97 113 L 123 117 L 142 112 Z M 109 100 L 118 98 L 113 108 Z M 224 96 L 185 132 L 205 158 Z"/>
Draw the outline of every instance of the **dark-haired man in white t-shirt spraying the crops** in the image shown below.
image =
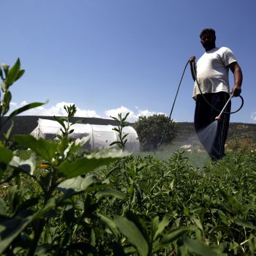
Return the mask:
<path fill-rule="evenodd" d="M 195 81 L 192 95 L 196 102 L 195 131 L 212 160 L 221 159 L 225 154 L 225 141 L 230 122 L 228 112 L 231 109 L 231 102 L 225 108 L 227 113 L 223 114 L 218 121 L 215 121 L 215 118 L 219 114 L 218 110 L 225 107 L 225 103 L 230 97 L 229 69 L 233 72 L 234 77 L 232 96 L 238 97 L 241 94 L 243 80 L 241 67 L 232 50 L 226 47 L 217 48 L 215 41 L 214 29 L 203 29 L 200 33 L 200 42 L 206 52 L 198 59 L 195 69 L 193 68 L 195 56 L 191 56 L 189 59 L 192 78 Z M 212 132 L 202 135 L 203 129 L 206 129 L 214 121 L 217 123 L 217 131 L 214 132 L 216 135 Z M 211 138 L 213 138 L 213 142 L 209 146 L 208 141 Z"/>

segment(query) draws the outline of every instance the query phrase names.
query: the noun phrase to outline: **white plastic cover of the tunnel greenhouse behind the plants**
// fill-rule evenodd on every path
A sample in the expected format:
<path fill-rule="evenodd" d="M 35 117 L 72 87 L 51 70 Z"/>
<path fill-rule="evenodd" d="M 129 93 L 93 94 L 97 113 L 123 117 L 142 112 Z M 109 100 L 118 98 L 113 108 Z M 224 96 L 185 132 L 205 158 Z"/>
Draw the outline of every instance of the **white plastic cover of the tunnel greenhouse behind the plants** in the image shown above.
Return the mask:
<path fill-rule="evenodd" d="M 37 122 L 37 127 L 31 132 L 34 138 L 55 140 L 56 135 L 61 135 L 61 124 L 57 121 L 39 118 Z M 118 140 L 118 133 L 113 131 L 114 127 L 110 124 L 73 124 L 71 129 L 74 129 L 74 132 L 72 132 L 70 137 L 77 139 L 89 136 L 89 141 L 83 146 L 89 151 L 94 151 L 97 148 L 110 148 L 110 143 Z M 135 129 L 130 126 L 124 127 L 123 132 L 128 134 L 124 149 L 129 152 L 140 151 L 140 142 Z"/>

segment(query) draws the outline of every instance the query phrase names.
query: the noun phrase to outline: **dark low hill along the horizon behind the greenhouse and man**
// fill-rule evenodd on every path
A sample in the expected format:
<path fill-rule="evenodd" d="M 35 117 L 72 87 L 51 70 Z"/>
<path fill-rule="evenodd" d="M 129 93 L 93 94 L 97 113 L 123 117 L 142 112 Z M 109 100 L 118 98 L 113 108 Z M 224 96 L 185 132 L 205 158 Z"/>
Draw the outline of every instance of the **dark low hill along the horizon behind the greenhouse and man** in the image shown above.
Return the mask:
<path fill-rule="evenodd" d="M 29 134 L 35 127 L 37 127 L 37 121 L 39 118 L 54 120 L 53 116 L 15 116 L 13 119 L 14 126 L 12 128 L 12 135 L 17 134 Z M 116 121 L 113 119 L 105 118 L 73 118 L 72 121 L 80 120 L 82 124 L 101 124 L 101 125 L 116 125 Z M 0 134 L 2 139 L 2 133 L 7 131 L 11 122 L 8 122 L 4 127 L 4 130 Z M 132 125 L 132 124 L 131 124 Z M 197 138 L 195 134 L 194 124 L 192 122 L 180 122 L 176 123 L 177 136 L 176 140 L 184 140 L 187 143 Z M 230 123 L 227 140 L 236 139 L 250 139 L 253 143 L 256 143 L 256 124 L 246 123 Z"/>

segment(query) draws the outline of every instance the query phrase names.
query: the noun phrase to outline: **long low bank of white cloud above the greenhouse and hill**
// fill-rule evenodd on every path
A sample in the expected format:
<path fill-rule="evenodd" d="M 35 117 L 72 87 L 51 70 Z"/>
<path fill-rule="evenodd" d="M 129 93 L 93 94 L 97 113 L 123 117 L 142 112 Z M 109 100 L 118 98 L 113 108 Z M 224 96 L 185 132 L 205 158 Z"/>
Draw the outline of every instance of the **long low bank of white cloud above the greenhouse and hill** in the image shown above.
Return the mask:
<path fill-rule="evenodd" d="M 23 107 L 24 105 L 29 104 L 25 100 L 20 102 L 20 104 L 16 102 L 10 103 L 10 113 L 12 110 L 16 108 Z M 31 110 L 27 110 L 26 112 L 21 113 L 23 116 L 67 116 L 66 110 L 64 110 L 64 105 L 72 105 L 70 102 L 59 102 L 54 106 L 50 106 L 47 108 L 47 105 L 42 105 L 38 108 L 32 108 Z M 139 116 L 152 116 L 154 114 L 163 114 L 157 113 L 150 110 L 140 110 L 140 108 L 135 107 L 135 110 L 131 110 L 127 107 L 121 106 L 120 108 L 114 108 L 110 110 L 105 110 L 105 116 L 100 116 L 95 110 L 83 110 L 76 106 L 77 112 L 75 116 L 78 117 L 96 117 L 96 118 L 110 118 L 110 116 L 117 117 L 118 113 L 121 113 L 122 116 L 125 116 L 129 112 L 129 116 L 127 117 L 127 121 L 134 122 L 138 120 Z"/>

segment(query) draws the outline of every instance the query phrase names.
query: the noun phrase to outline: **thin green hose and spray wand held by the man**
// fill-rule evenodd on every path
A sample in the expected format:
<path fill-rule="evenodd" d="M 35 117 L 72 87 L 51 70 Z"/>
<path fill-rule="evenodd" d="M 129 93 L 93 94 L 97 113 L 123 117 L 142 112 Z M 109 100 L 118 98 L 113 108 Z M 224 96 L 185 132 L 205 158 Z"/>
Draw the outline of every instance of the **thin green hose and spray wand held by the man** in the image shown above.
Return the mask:
<path fill-rule="evenodd" d="M 182 72 L 182 75 L 181 75 L 181 80 L 180 80 L 179 83 L 178 83 L 178 89 L 177 89 L 177 91 L 176 91 L 176 96 L 175 96 L 174 101 L 173 101 L 173 106 L 172 106 L 172 108 L 171 108 L 171 110 L 170 110 L 170 115 L 169 115 L 167 124 L 165 125 L 164 133 L 163 133 L 162 138 L 161 138 L 161 140 L 160 140 L 160 142 L 159 142 L 159 144 L 158 144 L 158 146 L 157 146 L 156 151 L 158 151 L 159 146 L 162 144 L 162 141 L 164 140 L 165 132 L 167 131 L 167 128 L 168 128 L 168 125 L 169 125 L 169 121 L 170 121 L 170 118 L 171 118 L 172 113 L 173 113 L 173 108 L 174 108 L 174 105 L 175 105 L 175 102 L 176 102 L 176 98 L 177 98 L 177 95 L 178 95 L 178 91 L 179 91 L 179 88 L 180 88 L 180 86 L 181 86 L 181 81 L 182 81 L 182 79 L 183 79 L 184 72 L 186 71 L 188 64 L 189 64 L 189 61 L 187 61 L 187 64 L 185 65 L 185 67 L 184 67 L 184 69 L 183 69 L 183 72 Z M 232 94 L 230 95 L 229 99 L 227 99 L 227 102 L 226 102 L 225 106 L 222 108 L 222 110 L 218 110 L 217 108 L 215 108 L 213 105 L 211 105 L 210 102 L 208 102 L 208 100 L 206 99 L 206 97 L 204 97 L 203 91 L 200 89 L 200 84 L 198 83 L 197 75 L 196 75 L 196 72 L 195 72 L 195 62 L 192 63 L 192 72 L 193 72 L 193 75 L 194 75 L 194 77 L 195 77 L 195 81 L 196 81 L 196 83 L 197 83 L 198 89 L 199 89 L 200 94 L 202 95 L 203 99 L 208 103 L 208 105 L 211 106 L 211 108 L 213 108 L 214 110 L 217 110 L 217 111 L 219 112 L 219 116 L 217 116 L 217 117 L 215 118 L 216 121 L 221 121 L 221 119 L 222 119 L 221 116 L 222 116 L 223 113 L 226 113 L 226 114 L 233 114 L 233 113 L 237 113 L 239 110 L 241 110 L 241 108 L 243 108 L 243 105 L 244 105 L 244 98 L 241 97 L 241 95 L 238 95 L 238 97 L 240 97 L 240 99 L 241 99 L 241 105 L 240 105 L 240 107 L 239 107 L 236 111 L 233 111 L 233 112 L 227 112 L 227 111 L 225 111 L 225 108 L 227 107 L 228 102 L 230 102 L 231 98 L 233 98 L 233 95 L 232 95 Z"/>

